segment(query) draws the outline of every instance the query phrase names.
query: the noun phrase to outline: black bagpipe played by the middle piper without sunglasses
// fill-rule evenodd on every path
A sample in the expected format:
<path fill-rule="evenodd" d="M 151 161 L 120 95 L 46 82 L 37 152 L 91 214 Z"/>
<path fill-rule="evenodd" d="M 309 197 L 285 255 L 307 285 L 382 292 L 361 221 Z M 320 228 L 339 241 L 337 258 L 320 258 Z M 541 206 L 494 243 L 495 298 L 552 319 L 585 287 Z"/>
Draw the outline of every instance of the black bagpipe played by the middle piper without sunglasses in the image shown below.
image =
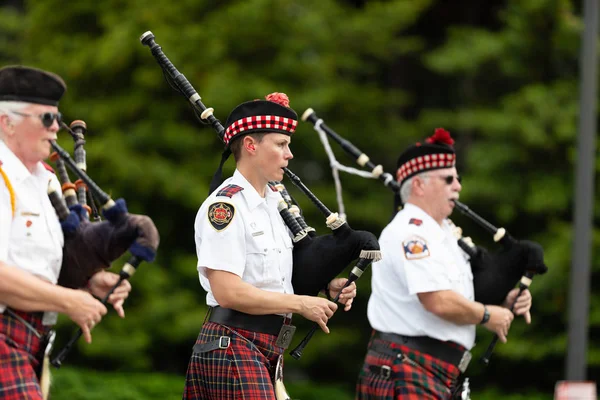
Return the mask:
<path fill-rule="evenodd" d="M 225 129 L 221 125 L 221 122 L 214 117 L 214 110 L 206 108 L 200 100 L 200 95 L 198 95 L 186 77 L 175 68 L 161 47 L 155 42 L 154 38 L 154 34 L 148 31 L 142 34 L 140 42 L 142 45 L 150 48 L 152 55 L 162 68 L 163 74 L 171 87 L 182 93 L 192 103 L 194 112 L 196 116 L 200 117 L 200 121 L 204 122 L 203 120 L 208 120 L 208 123 L 217 132 L 219 139 L 223 141 Z M 223 154 L 223 158 L 225 158 L 225 153 Z M 223 158 L 220 167 L 224 163 Z M 332 213 L 325 207 L 302 183 L 300 178 L 287 168 L 284 168 L 283 171 L 294 185 L 323 213 L 327 226 L 333 231 L 329 235 L 315 236 L 314 229 L 308 227 L 299 212 L 297 215 L 292 215 L 289 209 L 291 206 L 284 207 L 284 205 L 287 205 L 287 202 L 285 202 L 285 198 L 282 195 L 284 202 L 280 202 L 280 214 L 286 224 L 289 222 L 288 228 L 295 239 L 293 251 L 294 268 L 292 273 L 294 292 L 296 294 L 318 295 L 333 278 L 340 274 L 353 260 L 358 259 L 356 266 L 348 278 L 347 285 L 350 285 L 354 280 L 358 279 L 366 266 L 372 261 L 381 258 L 377 238 L 370 232 L 351 229 L 343 218 L 340 218 L 337 213 Z M 276 182 L 276 190 L 282 194 L 283 191 L 277 187 L 278 185 L 280 183 Z M 294 223 L 293 220 L 297 223 Z M 310 338 L 303 341 L 304 346 L 308 343 L 308 340 Z"/>

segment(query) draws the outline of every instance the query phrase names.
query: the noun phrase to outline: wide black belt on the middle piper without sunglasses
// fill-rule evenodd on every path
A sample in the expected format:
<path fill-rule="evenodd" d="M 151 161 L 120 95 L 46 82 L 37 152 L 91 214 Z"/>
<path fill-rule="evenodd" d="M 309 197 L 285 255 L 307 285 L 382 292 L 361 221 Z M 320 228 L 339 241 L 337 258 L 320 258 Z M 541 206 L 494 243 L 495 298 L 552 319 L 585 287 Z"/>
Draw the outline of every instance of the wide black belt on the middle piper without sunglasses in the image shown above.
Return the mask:
<path fill-rule="evenodd" d="M 270 335 L 279 335 L 281 327 L 289 324 L 289 319 L 281 315 L 250 315 L 219 306 L 211 309 L 208 320 L 232 328 L 268 333 Z M 286 322 L 288 323 L 286 324 Z"/>

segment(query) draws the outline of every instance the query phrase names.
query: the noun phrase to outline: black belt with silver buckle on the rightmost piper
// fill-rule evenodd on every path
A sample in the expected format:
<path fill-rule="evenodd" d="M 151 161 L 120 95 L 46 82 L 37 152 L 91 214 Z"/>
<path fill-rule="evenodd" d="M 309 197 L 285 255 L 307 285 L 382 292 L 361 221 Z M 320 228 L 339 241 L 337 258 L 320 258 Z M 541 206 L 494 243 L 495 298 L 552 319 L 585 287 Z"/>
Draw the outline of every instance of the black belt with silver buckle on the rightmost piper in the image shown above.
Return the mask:
<path fill-rule="evenodd" d="M 429 354 L 432 357 L 456 366 L 460 372 L 465 372 L 469 365 L 469 361 L 471 361 L 471 353 L 469 351 L 461 350 L 453 347 L 451 344 L 427 336 L 403 336 L 395 333 L 375 331 L 374 338 L 393 342 L 401 346 L 406 346 L 412 350 Z M 390 354 L 390 350 L 392 349 L 384 349 L 377 344 L 373 345 L 371 348 L 376 352 L 392 355 Z"/>

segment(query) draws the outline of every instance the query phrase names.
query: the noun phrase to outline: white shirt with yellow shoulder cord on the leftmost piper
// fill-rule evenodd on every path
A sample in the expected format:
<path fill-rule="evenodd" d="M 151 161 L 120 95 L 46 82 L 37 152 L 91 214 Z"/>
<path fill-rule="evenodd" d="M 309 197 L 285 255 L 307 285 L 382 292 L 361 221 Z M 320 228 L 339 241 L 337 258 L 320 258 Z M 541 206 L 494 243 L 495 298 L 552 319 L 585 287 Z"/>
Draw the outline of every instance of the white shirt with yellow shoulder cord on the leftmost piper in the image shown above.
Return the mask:
<path fill-rule="evenodd" d="M 48 184 L 56 176 L 40 162 L 33 173 L 0 140 L 0 161 L 15 194 L 0 177 L 0 261 L 56 284 L 62 264 L 64 237 L 48 198 Z M 0 304 L 0 312 L 5 306 Z"/>

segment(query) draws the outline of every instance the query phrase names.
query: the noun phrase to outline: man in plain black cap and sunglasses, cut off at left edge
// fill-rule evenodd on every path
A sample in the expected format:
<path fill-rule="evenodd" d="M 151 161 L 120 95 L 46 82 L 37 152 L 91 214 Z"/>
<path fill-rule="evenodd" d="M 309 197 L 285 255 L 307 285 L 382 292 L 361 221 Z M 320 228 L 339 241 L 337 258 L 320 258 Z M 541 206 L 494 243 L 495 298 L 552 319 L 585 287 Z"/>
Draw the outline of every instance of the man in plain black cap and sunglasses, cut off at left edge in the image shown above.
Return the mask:
<path fill-rule="evenodd" d="M 118 281 L 118 275 L 101 270 L 108 265 L 97 265 L 95 271 L 100 272 L 89 275 L 86 290 L 77 289 L 85 286 L 85 282 L 73 289 L 57 285 L 61 269 L 63 273 L 73 271 L 63 262 L 63 245 L 65 251 L 69 248 L 67 243 L 84 247 L 81 241 L 65 242 L 47 194 L 49 182 L 60 185 L 43 163 L 51 152 L 50 141 L 57 138 L 61 123 L 58 101 L 65 90 L 63 80 L 46 71 L 22 66 L 0 69 L 0 398 L 3 399 L 43 398 L 40 364 L 45 346 L 51 341 L 49 333 L 57 313 L 66 314 L 79 325 L 86 341 L 91 342 L 91 329 L 107 312 L 94 296 L 104 297 Z M 106 227 L 103 223 L 88 225 Z M 110 235 L 98 234 L 98 230 L 85 230 L 92 231 L 97 239 L 110 239 Z M 78 238 L 80 230 L 76 232 Z M 106 229 L 103 232 L 114 233 Z M 96 250 L 105 243 L 98 241 L 81 251 L 86 252 L 91 262 L 98 263 Z M 65 252 L 65 259 L 73 259 L 72 256 L 73 252 Z M 121 317 L 123 301 L 130 290 L 131 285 L 124 281 L 108 300 Z"/>

